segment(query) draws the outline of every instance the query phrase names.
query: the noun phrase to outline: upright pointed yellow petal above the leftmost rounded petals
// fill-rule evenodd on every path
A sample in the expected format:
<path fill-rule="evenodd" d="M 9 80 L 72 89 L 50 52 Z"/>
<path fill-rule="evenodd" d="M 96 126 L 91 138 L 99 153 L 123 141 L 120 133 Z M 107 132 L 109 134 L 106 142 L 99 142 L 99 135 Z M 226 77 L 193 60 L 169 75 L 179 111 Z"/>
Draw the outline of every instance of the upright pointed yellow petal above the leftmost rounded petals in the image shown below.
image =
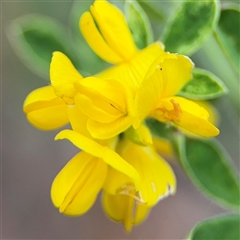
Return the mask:
<path fill-rule="evenodd" d="M 57 96 L 73 97 L 76 94 L 73 83 L 82 78 L 82 75 L 75 69 L 66 55 L 61 52 L 53 53 L 50 79 Z"/>

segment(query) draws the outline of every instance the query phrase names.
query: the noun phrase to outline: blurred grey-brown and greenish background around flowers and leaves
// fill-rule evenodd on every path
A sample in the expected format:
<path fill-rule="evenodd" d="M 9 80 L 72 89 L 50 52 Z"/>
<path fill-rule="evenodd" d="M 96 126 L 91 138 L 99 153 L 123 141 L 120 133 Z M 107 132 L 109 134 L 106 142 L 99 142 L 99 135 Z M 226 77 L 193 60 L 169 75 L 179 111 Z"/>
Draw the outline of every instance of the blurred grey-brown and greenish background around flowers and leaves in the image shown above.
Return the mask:
<path fill-rule="evenodd" d="M 59 130 L 39 131 L 27 122 L 22 112 L 25 97 L 32 90 L 48 84 L 49 79 L 33 74 L 20 61 L 6 33 L 12 20 L 29 13 L 44 14 L 70 27 L 69 15 L 73 6 L 74 3 L 69 1 L 1 2 L 2 238 L 183 239 L 198 221 L 225 210 L 198 192 L 173 160 L 170 164 L 178 180 L 176 195 L 159 202 L 146 221 L 134 227 L 130 234 L 124 232 L 121 224 L 104 215 L 100 196 L 93 208 L 81 217 L 63 216 L 51 203 L 49 192 L 53 178 L 78 149 L 67 141 L 54 142 Z M 162 6 L 168 15 L 177 4 L 162 3 Z M 153 27 L 158 36 L 162 26 Z M 237 78 L 211 36 L 191 58 L 196 66 L 212 71 L 227 85 L 230 78 Z M 239 169 L 236 101 L 233 102 L 230 91 L 214 104 L 221 116 L 218 140 Z"/>

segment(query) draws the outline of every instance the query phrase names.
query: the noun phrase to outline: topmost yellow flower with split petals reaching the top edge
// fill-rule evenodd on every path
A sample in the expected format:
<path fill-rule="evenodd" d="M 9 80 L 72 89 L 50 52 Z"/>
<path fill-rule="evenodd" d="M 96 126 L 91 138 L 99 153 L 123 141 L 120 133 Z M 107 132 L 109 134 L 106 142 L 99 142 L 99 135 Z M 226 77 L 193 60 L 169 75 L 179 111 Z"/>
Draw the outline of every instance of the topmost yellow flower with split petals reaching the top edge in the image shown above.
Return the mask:
<path fill-rule="evenodd" d="M 105 0 L 96 0 L 90 12 L 85 12 L 79 22 L 84 38 L 99 57 L 117 64 L 97 76 L 117 79 L 135 93 L 151 63 L 164 53 L 163 45 L 156 42 L 139 51 L 124 15 Z"/>

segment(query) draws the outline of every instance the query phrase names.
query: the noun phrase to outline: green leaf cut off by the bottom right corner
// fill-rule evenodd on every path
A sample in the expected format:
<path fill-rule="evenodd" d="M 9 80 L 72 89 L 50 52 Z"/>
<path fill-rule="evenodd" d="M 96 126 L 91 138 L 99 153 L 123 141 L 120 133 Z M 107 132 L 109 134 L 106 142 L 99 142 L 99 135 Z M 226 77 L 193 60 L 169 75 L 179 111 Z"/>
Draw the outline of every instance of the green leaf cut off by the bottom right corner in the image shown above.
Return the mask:
<path fill-rule="evenodd" d="M 239 240 L 240 219 L 238 215 L 220 215 L 198 223 L 188 240 Z"/>

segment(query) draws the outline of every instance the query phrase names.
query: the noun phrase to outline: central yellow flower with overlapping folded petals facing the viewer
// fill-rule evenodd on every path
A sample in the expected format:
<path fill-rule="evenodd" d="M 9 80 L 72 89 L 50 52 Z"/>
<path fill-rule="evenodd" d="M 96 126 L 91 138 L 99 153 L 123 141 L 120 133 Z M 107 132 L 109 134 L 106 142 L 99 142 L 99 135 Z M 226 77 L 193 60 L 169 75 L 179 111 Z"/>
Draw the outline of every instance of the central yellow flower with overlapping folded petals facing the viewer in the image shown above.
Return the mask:
<path fill-rule="evenodd" d="M 132 125 L 135 110 L 131 90 L 114 79 L 85 78 L 75 84 L 75 104 L 86 116 L 94 138 L 108 139 Z"/>

